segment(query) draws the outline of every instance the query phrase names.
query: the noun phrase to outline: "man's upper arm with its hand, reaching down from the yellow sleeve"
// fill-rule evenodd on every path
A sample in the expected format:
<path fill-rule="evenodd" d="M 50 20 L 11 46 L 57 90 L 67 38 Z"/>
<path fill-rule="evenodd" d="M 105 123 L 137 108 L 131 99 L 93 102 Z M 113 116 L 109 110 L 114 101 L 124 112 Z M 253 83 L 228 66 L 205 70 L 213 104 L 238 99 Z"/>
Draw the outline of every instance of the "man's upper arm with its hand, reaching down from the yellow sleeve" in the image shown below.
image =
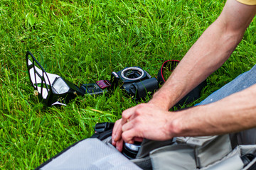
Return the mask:
<path fill-rule="evenodd" d="M 114 125 L 113 145 L 122 149 L 122 125 L 127 123 L 127 120 L 131 121 L 136 118 L 134 115 L 138 113 L 137 110 L 140 111 L 140 114 L 146 114 L 146 111 L 149 111 L 146 108 L 151 108 L 149 112 L 152 113 L 151 116 L 155 120 L 159 116 L 166 115 L 169 108 L 218 69 L 242 40 L 242 35 L 255 16 L 255 12 L 256 6 L 247 6 L 235 0 L 228 0 L 218 19 L 205 30 L 203 35 L 188 50 L 178 67 L 164 86 L 154 94 L 151 101 L 123 112 L 122 119 Z M 160 114 L 160 110 L 163 114 Z M 148 126 L 154 125 L 150 123 Z M 135 137 L 142 137 L 142 135 L 135 135 Z"/>

